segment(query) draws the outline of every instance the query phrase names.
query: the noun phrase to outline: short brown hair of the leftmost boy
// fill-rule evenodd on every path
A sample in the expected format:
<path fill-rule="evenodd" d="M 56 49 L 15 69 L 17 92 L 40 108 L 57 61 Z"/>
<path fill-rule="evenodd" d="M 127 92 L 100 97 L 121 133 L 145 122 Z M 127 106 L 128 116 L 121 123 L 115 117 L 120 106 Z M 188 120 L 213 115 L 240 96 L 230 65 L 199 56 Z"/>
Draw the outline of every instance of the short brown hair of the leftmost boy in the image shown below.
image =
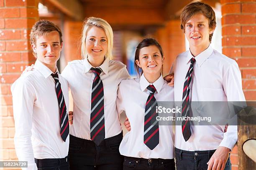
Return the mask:
<path fill-rule="evenodd" d="M 36 40 L 38 37 L 46 35 L 51 31 L 57 31 L 59 33 L 60 44 L 62 44 L 63 40 L 61 30 L 57 25 L 48 20 L 40 20 L 33 25 L 32 30 L 30 32 L 30 44 L 36 45 Z M 36 55 L 34 52 L 33 54 Z"/>

